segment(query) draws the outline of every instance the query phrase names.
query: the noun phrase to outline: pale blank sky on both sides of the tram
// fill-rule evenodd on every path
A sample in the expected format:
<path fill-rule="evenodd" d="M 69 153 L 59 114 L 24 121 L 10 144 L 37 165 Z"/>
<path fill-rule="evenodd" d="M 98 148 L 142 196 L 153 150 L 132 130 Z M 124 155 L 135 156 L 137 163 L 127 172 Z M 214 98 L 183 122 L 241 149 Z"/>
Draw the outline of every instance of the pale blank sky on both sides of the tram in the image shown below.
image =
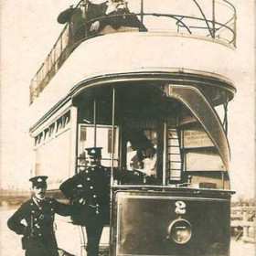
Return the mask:
<path fill-rule="evenodd" d="M 0 187 L 27 187 L 32 142 L 27 114 L 29 82 L 63 26 L 59 13 L 78 1 L 1 0 Z M 253 197 L 254 177 L 254 8 L 253 0 L 231 1 L 238 12 L 236 85 L 229 103 L 231 186 Z"/>

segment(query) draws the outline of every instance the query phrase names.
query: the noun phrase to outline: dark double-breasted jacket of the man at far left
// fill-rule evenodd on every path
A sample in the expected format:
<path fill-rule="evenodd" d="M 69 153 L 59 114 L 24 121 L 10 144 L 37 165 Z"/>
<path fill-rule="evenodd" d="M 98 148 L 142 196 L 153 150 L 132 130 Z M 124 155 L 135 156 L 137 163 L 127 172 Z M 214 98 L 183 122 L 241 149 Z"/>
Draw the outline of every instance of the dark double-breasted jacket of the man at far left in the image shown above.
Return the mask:
<path fill-rule="evenodd" d="M 48 243 L 51 247 L 56 247 L 57 243 L 54 234 L 55 213 L 62 216 L 71 215 L 73 209 L 59 203 L 53 198 L 45 198 L 37 201 L 31 198 L 16 210 L 14 215 L 8 219 L 7 226 L 19 235 L 23 235 L 23 249 L 27 250 L 30 244 Z M 21 223 L 25 219 L 27 225 Z"/>

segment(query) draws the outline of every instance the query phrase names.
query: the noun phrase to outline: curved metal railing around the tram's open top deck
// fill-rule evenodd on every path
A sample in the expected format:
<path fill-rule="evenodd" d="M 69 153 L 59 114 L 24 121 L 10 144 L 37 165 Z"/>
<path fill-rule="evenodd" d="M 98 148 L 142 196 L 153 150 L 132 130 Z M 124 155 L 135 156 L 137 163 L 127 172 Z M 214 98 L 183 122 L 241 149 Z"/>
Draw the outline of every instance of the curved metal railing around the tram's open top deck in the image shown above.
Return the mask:
<path fill-rule="evenodd" d="M 30 103 L 48 85 L 70 53 L 81 41 L 110 33 L 103 29 L 91 33 L 91 24 L 100 21 L 120 31 L 162 32 L 207 37 L 236 47 L 236 9 L 226 0 L 129 0 L 122 13 L 110 13 L 91 19 L 82 14 L 80 1 L 72 8 L 72 16 L 63 28 L 47 59 L 30 84 Z M 127 5 L 128 4 L 128 5 Z M 88 8 L 87 8 L 88 9 Z M 104 27 L 105 27 L 104 26 Z M 126 28 L 124 28 L 126 27 Z M 120 29 L 122 28 L 122 29 Z"/>

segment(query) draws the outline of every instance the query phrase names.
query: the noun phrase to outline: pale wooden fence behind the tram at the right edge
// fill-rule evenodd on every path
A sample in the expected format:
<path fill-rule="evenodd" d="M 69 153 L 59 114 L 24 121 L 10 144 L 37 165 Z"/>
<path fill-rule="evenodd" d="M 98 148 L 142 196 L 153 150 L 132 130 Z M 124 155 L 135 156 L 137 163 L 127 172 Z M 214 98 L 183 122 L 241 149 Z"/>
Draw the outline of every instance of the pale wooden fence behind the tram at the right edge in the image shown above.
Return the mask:
<path fill-rule="evenodd" d="M 231 229 L 236 236 L 245 242 L 256 242 L 255 207 L 232 207 Z"/>

